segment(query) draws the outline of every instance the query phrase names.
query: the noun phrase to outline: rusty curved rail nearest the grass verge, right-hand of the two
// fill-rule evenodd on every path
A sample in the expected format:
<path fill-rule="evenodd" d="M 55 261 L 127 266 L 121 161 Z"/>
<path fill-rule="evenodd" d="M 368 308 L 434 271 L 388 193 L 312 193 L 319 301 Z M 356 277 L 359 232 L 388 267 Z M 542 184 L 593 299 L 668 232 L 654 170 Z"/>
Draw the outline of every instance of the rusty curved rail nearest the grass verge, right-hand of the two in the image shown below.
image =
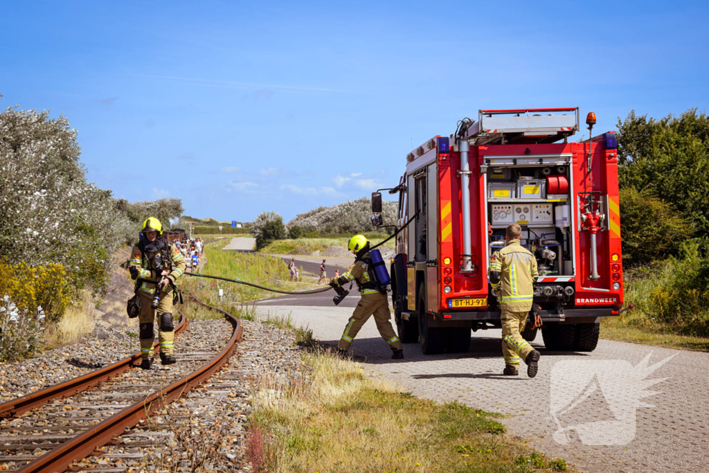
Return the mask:
<path fill-rule="evenodd" d="M 94 425 L 94 427 L 89 430 L 84 430 L 84 432 L 71 440 L 67 440 L 67 442 L 62 443 L 55 449 L 41 455 L 37 460 L 17 469 L 16 473 L 53 473 L 65 471 L 73 462 L 82 460 L 82 458 L 91 455 L 97 448 L 111 443 L 113 437 L 121 435 L 121 433 L 125 431 L 125 428 L 131 428 L 137 425 L 139 421 L 147 418 L 152 411 L 162 408 L 162 406 L 171 403 L 179 396 L 183 396 L 189 392 L 190 389 L 206 381 L 224 365 L 236 350 L 236 343 L 242 338 L 243 330 L 241 322 L 227 311 L 204 304 L 197 299 L 194 294 L 190 293 L 189 295 L 202 306 L 223 313 L 225 318 L 233 325 L 234 332 L 226 347 L 200 369 L 170 384 L 166 388 L 160 389 L 160 391 L 155 391 L 143 401 L 123 409 L 123 411 Z M 182 314 L 182 312 L 180 313 Z M 184 314 L 182 314 L 182 317 L 185 318 Z"/>

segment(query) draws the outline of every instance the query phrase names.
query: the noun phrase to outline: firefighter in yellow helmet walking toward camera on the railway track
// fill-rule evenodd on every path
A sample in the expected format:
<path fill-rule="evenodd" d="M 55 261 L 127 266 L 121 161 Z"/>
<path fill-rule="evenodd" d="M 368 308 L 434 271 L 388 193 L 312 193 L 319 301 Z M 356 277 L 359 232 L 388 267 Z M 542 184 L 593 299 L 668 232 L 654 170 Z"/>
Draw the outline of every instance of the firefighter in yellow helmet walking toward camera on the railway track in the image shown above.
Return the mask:
<path fill-rule="evenodd" d="M 150 369 L 156 319 L 162 365 L 176 362 L 172 346 L 172 304 L 177 303 L 173 299 L 179 299 L 179 292 L 174 283 L 184 274 L 187 263 L 179 250 L 163 237 L 162 225 L 157 218 L 147 218 L 140 231 L 140 241 L 130 251 L 128 271 L 131 279 L 135 280 L 135 291 L 140 298 L 138 321 L 140 353 L 143 356 L 140 367 Z"/>

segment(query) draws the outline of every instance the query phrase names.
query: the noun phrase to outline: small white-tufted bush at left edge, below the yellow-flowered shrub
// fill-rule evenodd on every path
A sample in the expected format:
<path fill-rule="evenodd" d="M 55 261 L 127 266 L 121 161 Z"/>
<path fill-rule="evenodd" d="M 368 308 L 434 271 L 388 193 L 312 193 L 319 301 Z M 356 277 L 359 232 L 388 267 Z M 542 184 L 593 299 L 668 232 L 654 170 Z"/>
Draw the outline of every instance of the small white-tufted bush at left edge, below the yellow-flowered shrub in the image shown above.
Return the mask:
<path fill-rule="evenodd" d="M 40 346 L 45 329 L 41 306 L 18 308 L 7 294 L 0 298 L 0 362 L 28 357 Z"/>

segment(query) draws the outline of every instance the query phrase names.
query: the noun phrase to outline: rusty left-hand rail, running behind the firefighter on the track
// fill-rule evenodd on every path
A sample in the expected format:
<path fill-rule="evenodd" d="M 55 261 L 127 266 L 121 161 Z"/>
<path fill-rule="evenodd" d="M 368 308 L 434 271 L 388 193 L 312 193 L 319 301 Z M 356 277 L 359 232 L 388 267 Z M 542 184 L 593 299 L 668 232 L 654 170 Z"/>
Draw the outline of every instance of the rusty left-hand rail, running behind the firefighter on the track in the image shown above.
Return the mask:
<path fill-rule="evenodd" d="M 187 319 L 183 316 L 177 327 L 175 327 L 175 333 L 182 333 L 186 326 Z M 158 343 L 155 343 L 153 347 L 156 351 L 160 350 Z M 108 365 L 107 367 L 82 374 L 74 379 L 69 379 L 69 381 L 49 386 L 48 388 L 33 392 L 27 396 L 11 399 L 10 401 L 0 404 L 0 418 L 21 416 L 23 413 L 31 411 L 33 408 L 44 406 L 52 399 L 65 399 L 79 394 L 82 391 L 86 391 L 86 389 L 98 386 L 112 377 L 123 374 L 131 367 L 135 367 L 136 365 L 133 364 L 138 360 L 140 360 L 140 352 L 130 355 L 130 357 L 123 358 L 123 360 Z"/>

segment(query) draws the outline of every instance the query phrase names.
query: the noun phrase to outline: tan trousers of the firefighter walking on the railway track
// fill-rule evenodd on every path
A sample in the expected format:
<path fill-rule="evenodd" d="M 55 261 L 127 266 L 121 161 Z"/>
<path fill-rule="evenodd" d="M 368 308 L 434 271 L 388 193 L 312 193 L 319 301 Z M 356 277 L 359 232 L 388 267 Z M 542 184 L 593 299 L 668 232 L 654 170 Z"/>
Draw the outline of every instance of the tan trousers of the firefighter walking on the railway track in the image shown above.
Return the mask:
<path fill-rule="evenodd" d="M 160 352 L 165 355 L 173 355 L 174 318 L 172 317 L 172 291 L 160 294 L 160 304 L 158 304 L 157 310 L 150 307 L 152 303 L 150 294 L 144 294 L 142 291 L 138 294 L 140 296 L 140 313 L 138 313 L 140 354 L 143 355 L 143 359 L 152 358 L 152 345 L 155 343 L 154 327 L 157 323 L 157 340 L 160 343 Z"/>

